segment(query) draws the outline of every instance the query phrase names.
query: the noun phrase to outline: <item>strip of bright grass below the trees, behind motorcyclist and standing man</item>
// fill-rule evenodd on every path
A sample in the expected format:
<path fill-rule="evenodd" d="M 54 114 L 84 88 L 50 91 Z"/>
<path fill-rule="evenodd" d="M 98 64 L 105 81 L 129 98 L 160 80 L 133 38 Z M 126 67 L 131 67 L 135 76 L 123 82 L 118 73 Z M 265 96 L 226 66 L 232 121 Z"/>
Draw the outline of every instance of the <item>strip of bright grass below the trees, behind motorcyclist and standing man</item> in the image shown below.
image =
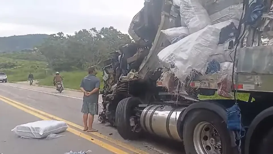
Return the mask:
<path fill-rule="evenodd" d="M 80 82 L 82 79 L 87 75 L 86 71 L 73 71 L 73 72 L 60 72 L 60 75 L 63 76 L 63 85 L 65 88 L 69 89 L 80 89 Z M 47 76 L 44 80 L 39 81 L 37 84 L 44 85 L 44 86 L 53 86 L 53 76 Z M 96 75 L 100 78 L 100 89 L 103 88 L 102 82 L 102 72 L 98 72 Z"/>

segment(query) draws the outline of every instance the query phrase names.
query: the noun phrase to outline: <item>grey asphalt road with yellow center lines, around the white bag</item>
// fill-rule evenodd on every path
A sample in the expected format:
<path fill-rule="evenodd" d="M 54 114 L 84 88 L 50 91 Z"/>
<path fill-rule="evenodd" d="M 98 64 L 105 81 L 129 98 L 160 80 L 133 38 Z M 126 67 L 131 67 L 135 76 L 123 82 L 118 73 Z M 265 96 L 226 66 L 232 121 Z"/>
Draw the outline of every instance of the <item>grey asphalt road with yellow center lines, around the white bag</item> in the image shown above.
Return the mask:
<path fill-rule="evenodd" d="M 94 128 L 82 129 L 82 93 L 29 86 L 20 83 L 0 83 L 0 153 L 63 154 L 72 151 L 92 153 L 185 154 L 183 144 L 160 137 L 145 135 L 137 141 L 120 137 L 117 130 L 101 124 L 95 116 Z M 55 139 L 25 139 L 11 132 L 16 125 L 38 120 L 65 121 L 70 127 Z"/>

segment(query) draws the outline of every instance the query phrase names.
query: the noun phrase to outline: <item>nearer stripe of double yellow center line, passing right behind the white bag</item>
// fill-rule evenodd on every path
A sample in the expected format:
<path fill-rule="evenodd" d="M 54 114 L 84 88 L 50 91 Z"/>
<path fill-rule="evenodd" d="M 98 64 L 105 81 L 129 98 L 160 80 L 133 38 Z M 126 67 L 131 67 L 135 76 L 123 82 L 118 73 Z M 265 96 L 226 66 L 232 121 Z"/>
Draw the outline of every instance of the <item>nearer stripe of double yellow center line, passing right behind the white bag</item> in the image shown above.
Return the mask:
<path fill-rule="evenodd" d="M 8 101 L 7 99 L 3 99 L 2 96 L 0 96 L 0 100 L 2 100 L 3 102 L 6 102 L 7 104 L 10 104 L 11 106 L 14 106 L 15 108 L 23 110 L 24 112 L 32 114 L 33 116 L 39 117 L 39 118 L 41 118 L 43 120 L 52 120 L 52 119 L 44 117 L 44 116 L 42 116 L 42 115 L 40 115 L 38 113 L 35 113 L 35 112 L 31 111 L 31 110 L 28 110 L 26 108 L 18 106 L 16 104 L 14 104 L 13 102 Z M 125 152 L 125 151 L 122 151 L 121 149 L 113 147 L 113 146 L 111 146 L 111 145 L 109 145 L 107 143 L 104 143 L 104 142 L 102 142 L 102 141 L 100 141 L 98 139 L 92 138 L 91 136 L 86 135 L 86 134 L 84 134 L 84 133 L 82 133 L 80 131 L 77 131 L 76 129 L 72 129 L 72 128 L 69 127 L 69 128 L 67 128 L 67 131 L 69 131 L 69 132 L 71 132 L 71 133 L 73 133 L 75 135 L 78 135 L 78 136 L 80 136 L 80 137 L 82 137 L 84 139 L 87 139 L 88 141 L 91 141 L 91 142 L 93 142 L 93 143 L 95 143 L 95 144 L 97 144 L 97 145 L 99 145 L 99 146 L 113 152 L 113 153 L 116 153 L 116 154 L 129 154 L 129 153 Z"/>

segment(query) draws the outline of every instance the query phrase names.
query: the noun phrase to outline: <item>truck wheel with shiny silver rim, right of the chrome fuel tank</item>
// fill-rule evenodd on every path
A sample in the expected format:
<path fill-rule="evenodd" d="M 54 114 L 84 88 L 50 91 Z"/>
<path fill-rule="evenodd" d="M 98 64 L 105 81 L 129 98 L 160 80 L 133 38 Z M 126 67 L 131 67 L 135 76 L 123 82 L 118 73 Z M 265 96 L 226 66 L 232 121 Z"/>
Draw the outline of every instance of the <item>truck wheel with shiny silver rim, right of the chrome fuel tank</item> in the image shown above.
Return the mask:
<path fill-rule="evenodd" d="M 218 114 L 195 110 L 185 119 L 183 140 L 187 154 L 233 154 L 227 125 Z"/>

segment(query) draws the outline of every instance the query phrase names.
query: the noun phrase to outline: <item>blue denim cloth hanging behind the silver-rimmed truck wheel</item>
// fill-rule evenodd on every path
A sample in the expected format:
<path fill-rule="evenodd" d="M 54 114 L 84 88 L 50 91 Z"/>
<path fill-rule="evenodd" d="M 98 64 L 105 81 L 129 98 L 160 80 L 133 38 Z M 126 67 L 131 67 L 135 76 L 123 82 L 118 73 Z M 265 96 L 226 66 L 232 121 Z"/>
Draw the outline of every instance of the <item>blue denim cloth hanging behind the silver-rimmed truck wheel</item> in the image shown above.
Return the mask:
<path fill-rule="evenodd" d="M 241 121 L 241 110 L 239 108 L 239 105 L 235 103 L 230 108 L 226 109 L 227 115 L 228 115 L 228 122 L 227 126 L 228 129 L 232 130 L 236 133 L 239 133 L 239 153 L 241 153 L 241 138 L 245 136 L 245 128 L 242 125 Z M 237 138 L 237 137 L 236 137 Z"/>

